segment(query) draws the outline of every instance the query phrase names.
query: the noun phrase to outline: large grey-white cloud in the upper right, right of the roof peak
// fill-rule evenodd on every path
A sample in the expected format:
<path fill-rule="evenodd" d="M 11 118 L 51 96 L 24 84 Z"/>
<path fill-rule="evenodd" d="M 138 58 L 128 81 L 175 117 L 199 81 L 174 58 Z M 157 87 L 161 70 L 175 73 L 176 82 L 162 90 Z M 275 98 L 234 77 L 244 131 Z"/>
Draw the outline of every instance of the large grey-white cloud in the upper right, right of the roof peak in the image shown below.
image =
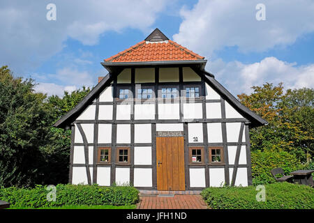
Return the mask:
<path fill-rule="evenodd" d="M 266 6 L 265 21 L 255 18 L 257 3 Z M 203 56 L 232 46 L 264 52 L 314 31 L 313 12 L 313 0 L 200 0 L 190 10 L 181 9 L 184 21 L 173 38 Z"/>

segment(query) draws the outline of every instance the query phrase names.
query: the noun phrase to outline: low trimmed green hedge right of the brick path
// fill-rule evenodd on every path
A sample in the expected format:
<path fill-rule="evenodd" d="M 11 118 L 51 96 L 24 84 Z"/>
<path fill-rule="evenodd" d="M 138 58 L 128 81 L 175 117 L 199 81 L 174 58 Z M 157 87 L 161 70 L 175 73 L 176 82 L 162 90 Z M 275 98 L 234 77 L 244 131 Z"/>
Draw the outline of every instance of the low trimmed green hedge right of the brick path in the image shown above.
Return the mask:
<path fill-rule="evenodd" d="M 255 186 L 209 187 L 201 192 L 209 207 L 216 209 L 313 209 L 314 189 L 306 185 L 265 185 L 265 201 L 256 201 Z"/>

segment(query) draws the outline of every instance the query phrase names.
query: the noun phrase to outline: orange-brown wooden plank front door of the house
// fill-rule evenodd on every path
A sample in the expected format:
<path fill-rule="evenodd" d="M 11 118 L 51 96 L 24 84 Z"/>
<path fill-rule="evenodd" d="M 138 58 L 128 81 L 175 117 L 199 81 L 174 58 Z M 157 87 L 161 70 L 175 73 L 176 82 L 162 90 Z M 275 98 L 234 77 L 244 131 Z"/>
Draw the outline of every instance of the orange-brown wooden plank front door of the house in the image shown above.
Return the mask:
<path fill-rule="evenodd" d="M 156 138 L 157 190 L 185 190 L 184 137 Z"/>

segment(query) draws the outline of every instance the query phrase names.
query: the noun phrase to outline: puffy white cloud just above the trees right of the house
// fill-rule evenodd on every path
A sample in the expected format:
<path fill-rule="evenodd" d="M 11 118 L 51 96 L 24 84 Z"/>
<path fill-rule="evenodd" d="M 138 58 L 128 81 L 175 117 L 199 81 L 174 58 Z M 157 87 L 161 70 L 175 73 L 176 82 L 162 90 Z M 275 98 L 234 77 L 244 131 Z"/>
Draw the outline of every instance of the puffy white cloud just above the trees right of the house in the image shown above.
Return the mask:
<path fill-rule="evenodd" d="M 244 64 L 239 61 L 225 63 L 221 59 L 207 65 L 215 78 L 234 95 L 251 93 L 251 86 L 262 86 L 266 82 L 283 82 L 285 89 L 314 87 L 314 64 L 297 66 L 267 57 L 258 63 Z"/>

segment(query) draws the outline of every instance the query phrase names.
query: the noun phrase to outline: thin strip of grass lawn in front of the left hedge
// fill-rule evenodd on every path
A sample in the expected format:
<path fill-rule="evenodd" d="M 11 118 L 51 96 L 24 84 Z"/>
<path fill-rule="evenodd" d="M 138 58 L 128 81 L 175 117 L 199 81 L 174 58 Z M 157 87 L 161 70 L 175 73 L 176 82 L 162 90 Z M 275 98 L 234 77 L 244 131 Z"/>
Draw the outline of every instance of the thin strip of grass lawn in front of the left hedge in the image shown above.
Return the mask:
<path fill-rule="evenodd" d="M 128 205 L 128 206 L 112 206 L 112 205 L 94 205 L 94 206 L 59 206 L 59 207 L 43 207 L 43 208 L 8 208 L 8 209 L 135 209 L 136 205 Z"/>

